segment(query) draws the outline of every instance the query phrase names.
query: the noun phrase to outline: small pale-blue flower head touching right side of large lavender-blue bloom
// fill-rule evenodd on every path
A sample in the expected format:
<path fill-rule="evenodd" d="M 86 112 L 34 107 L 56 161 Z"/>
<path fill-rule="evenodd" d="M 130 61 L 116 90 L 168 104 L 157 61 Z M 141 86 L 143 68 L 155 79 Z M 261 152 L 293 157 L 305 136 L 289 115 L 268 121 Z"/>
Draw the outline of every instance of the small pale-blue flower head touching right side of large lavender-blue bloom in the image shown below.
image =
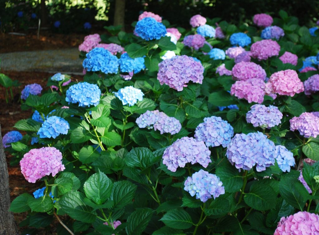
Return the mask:
<path fill-rule="evenodd" d="M 295 165 L 293 153 L 286 149 L 285 146 L 277 145 L 275 148 L 275 158 L 280 170 L 290 172 L 291 166 Z"/>

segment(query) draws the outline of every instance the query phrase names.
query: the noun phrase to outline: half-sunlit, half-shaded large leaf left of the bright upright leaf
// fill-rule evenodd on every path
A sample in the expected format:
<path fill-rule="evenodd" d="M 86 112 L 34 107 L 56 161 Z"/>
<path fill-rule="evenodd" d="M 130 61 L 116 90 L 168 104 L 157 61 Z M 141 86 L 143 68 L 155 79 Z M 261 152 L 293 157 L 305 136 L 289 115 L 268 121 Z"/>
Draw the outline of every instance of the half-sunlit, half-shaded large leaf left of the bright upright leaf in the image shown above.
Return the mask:
<path fill-rule="evenodd" d="M 96 212 L 83 202 L 84 195 L 78 191 L 70 191 L 62 196 L 59 205 L 71 218 L 85 223 L 93 223 Z"/>

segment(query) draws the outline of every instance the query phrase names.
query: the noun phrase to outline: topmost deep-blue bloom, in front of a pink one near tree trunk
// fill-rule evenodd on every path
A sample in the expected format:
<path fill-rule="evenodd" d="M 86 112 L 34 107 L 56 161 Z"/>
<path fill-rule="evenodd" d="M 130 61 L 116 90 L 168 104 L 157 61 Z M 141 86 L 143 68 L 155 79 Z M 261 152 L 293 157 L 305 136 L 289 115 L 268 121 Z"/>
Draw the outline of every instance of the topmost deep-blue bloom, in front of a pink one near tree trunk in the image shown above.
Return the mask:
<path fill-rule="evenodd" d="M 149 41 L 153 39 L 159 40 L 165 36 L 167 31 L 162 23 L 157 22 L 154 18 L 146 17 L 137 21 L 135 33 L 142 39 Z"/>

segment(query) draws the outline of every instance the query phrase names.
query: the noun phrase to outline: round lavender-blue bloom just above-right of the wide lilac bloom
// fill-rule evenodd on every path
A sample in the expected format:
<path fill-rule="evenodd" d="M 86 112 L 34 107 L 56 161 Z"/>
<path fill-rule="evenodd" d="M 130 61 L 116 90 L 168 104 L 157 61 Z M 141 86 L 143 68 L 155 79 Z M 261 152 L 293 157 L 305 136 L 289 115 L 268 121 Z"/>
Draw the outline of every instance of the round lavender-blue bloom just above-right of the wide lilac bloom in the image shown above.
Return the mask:
<path fill-rule="evenodd" d="M 228 145 L 234 135 L 234 128 L 221 117 L 211 116 L 204 118 L 195 130 L 195 139 L 204 141 L 207 147 Z"/>

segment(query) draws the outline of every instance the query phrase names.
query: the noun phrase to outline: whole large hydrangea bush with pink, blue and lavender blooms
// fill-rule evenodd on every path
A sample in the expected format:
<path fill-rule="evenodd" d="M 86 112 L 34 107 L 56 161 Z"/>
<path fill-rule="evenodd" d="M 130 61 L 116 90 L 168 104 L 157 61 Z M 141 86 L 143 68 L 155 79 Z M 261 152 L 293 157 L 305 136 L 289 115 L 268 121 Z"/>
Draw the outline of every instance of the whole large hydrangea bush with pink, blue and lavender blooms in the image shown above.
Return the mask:
<path fill-rule="evenodd" d="M 319 37 L 284 11 L 155 13 L 86 36 L 83 81 L 21 92 L 3 144 L 34 184 L 10 208 L 25 233 L 318 234 Z"/>

